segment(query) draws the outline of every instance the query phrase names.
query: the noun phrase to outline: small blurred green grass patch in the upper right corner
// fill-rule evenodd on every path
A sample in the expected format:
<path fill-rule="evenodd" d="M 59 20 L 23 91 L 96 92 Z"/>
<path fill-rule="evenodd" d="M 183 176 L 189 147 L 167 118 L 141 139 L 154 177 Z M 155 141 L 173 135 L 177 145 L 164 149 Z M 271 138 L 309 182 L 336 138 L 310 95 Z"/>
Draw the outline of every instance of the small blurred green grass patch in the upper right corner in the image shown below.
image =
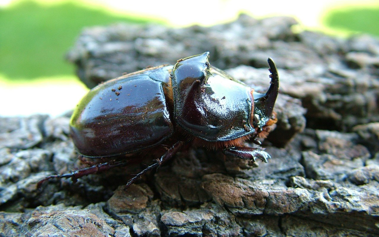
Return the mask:
<path fill-rule="evenodd" d="M 340 6 L 323 17 L 326 27 L 379 36 L 379 5 Z"/>

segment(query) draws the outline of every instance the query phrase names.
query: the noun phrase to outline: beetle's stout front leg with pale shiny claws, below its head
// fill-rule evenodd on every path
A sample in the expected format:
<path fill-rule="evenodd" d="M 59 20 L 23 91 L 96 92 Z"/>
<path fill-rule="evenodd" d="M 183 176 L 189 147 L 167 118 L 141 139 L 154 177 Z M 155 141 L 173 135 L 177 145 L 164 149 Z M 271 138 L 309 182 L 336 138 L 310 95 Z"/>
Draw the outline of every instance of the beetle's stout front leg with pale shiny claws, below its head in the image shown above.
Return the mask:
<path fill-rule="evenodd" d="M 254 162 L 258 158 L 267 163 L 267 159 L 271 158 L 271 156 L 262 149 L 250 147 L 228 147 L 223 149 L 222 153 Z"/>

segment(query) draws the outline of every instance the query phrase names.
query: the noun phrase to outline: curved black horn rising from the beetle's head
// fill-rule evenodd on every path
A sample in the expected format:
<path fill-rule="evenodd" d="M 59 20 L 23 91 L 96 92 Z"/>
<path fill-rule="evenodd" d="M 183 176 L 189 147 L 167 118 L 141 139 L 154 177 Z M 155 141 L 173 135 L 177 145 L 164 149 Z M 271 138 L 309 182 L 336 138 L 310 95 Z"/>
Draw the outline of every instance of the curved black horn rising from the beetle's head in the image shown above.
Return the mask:
<path fill-rule="evenodd" d="M 271 58 L 268 58 L 269 71 L 271 72 L 270 87 L 266 93 L 254 92 L 254 127 L 263 127 L 270 119 L 276 97 L 279 93 L 279 75 L 275 63 Z"/>

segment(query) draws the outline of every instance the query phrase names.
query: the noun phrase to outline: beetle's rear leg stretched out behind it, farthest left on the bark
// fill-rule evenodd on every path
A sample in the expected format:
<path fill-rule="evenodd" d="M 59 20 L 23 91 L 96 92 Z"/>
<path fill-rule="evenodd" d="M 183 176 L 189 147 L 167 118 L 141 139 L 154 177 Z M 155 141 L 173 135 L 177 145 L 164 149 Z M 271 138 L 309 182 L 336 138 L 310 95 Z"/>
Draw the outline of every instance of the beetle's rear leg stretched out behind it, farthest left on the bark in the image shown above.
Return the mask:
<path fill-rule="evenodd" d="M 92 165 L 87 168 L 83 168 L 80 170 L 74 170 L 71 173 L 67 174 L 55 174 L 45 177 L 44 179 L 41 179 L 37 183 L 37 188 L 40 188 L 42 183 L 49 179 L 62 179 L 62 178 L 71 178 L 72 181 L 76 181 L 78 178 L 86 176 L 88 174 L 96 174 L 97 172 L 102 172 L 106 170 L 110 170 L 111 168 L 117 167 L 117 166 L 126 166 L 128 162 L 126 160 L 120 160 L 120 161 L 109 161 L 105 163 L 100 163 L 96 165 Z"/>

